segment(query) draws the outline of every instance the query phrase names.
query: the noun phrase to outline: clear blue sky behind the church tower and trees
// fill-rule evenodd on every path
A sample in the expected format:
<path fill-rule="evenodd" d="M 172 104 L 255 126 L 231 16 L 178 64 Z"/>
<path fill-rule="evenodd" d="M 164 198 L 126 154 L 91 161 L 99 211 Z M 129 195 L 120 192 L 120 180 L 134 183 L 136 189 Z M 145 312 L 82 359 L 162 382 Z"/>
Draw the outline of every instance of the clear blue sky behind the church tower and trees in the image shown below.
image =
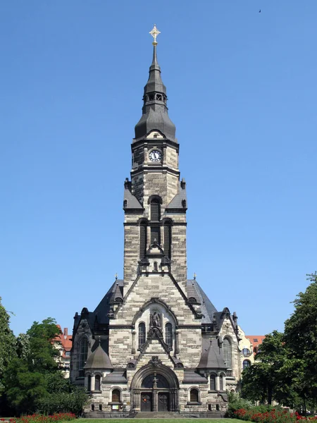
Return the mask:
<path fill-rule="evenodd" d="M 1 1 L 0 295 L 16 334 L 46 317 L 71 329 L 123 276 L 154 23 L 188 277 L 247 334 L 283 329 L 317 269 L 316 18 L 316 0 Z"/>

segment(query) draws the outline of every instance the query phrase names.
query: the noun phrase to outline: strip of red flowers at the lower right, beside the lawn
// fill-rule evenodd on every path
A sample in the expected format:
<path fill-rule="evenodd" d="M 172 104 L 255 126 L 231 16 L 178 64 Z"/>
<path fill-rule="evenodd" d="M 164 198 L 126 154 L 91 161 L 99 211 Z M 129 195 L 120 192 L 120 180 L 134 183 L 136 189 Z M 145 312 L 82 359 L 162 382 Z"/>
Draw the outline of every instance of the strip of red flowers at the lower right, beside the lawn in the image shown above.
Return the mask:
<path fill-rule="evenodd" d="M 296 423 L 298 420 L 317 422 L 317 417 L 304 417 L 300 416 L 297 412 L 292 413 L 287 410 L 278 411 L 274 408 L 267 412 L 259 412 L 256 408 L 253 410 L 240 408 L 234 412 L 234 415 L 237 419 L 256 423 Z"/>

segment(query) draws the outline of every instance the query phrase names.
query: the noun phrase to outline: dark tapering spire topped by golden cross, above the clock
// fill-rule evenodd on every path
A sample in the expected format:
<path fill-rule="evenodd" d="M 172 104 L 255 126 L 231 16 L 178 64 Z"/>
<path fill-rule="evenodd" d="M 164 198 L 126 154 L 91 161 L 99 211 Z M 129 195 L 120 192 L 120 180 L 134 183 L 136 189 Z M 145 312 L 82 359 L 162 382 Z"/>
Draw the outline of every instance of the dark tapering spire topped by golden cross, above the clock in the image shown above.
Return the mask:
<path fill-rule="evenodd" d="M 144 87 L 142 117 L 135 125 L 135 140 L 146 137 L 151 130 L 159 130 L 166 138 L 175 141 L 175 125 L 168 116 L 166 86 L 161 80 L 161 68 L 157 61 L 156 37 L 161 32 L 154 24 L 149 33 L 154 38 L 153 59 L 149 68 L 149 79 Z"/>

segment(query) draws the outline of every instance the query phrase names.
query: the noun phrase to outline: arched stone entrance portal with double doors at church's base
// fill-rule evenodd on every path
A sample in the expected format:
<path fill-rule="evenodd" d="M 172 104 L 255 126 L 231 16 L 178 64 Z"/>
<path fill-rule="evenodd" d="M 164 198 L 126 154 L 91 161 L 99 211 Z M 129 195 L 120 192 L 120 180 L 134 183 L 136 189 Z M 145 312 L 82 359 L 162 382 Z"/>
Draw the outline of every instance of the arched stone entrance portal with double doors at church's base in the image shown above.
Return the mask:
<path fill-rule="evenodd" d="M 157 366 L 153 365 L 152 360 L 147 366 L 139 369 L 132 379 L 131 404 L 133 410 L 141 412 L 178 411 L 177 376 L 173 370 L 161 363 L 157 363 Z"/>

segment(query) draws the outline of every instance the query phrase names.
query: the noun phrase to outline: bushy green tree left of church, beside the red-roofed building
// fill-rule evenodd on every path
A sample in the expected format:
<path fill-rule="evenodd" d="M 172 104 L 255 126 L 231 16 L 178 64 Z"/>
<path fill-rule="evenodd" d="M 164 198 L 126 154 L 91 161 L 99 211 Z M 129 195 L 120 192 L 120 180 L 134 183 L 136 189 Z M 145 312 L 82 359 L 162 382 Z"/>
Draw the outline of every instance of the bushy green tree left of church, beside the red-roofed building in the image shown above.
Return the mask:
<path fill-rule="evenodd" d="M 56 338 L 60 330 L 54 319 L 35 321 L 17 342 L 18 357 L 4 373 L 8 403 L 15 413 L 75 412 L 79 415 L 87 401 L 84 390 L 70 384 L 58 368 Z"/>

